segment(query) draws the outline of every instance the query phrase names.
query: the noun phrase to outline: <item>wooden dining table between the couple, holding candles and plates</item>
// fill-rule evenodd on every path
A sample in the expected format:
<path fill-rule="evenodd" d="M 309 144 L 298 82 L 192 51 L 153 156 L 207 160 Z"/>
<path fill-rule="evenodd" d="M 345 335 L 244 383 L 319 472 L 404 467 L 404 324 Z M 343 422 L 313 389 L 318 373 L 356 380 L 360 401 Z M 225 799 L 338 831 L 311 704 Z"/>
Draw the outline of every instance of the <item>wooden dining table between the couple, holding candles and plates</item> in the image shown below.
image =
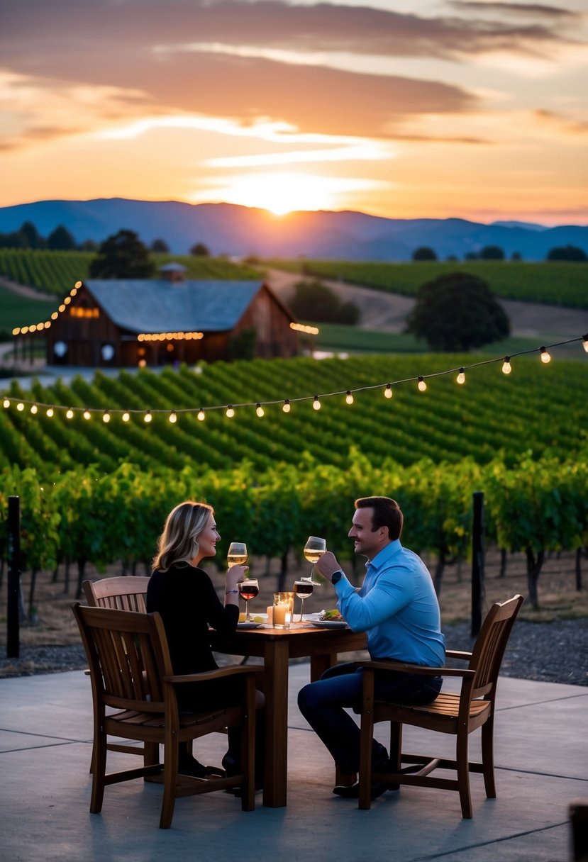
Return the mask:
<path fill-rule="evenodd" d="M 366 635 L 350 628 L 237 629 L 230 637 L 213 636 L 217 653 L 264 659 L 266 695 L 266 776 L 264 805 L 286 804 L 288 773 L 288 662 L 310 657 L 310 679 L 337 662 L 337 653 L 366 649 Z"/>

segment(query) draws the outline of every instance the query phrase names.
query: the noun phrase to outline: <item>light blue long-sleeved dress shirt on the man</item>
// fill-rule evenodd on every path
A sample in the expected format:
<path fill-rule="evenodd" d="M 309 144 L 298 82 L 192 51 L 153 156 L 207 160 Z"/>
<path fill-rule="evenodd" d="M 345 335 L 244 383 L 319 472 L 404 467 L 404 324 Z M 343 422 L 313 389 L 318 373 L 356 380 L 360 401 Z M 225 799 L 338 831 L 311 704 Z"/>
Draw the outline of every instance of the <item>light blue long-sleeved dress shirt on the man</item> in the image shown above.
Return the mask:
<path fill-rule="evenodd" d="M 445 638 L 433 580 L 422 559 L 400 540 L 366 563 L 360 590 L 345 575 L 337 606 L 354 632 L 367 632 L 372 659 L 397 659 L 432 667 L 445 661 Z"/>

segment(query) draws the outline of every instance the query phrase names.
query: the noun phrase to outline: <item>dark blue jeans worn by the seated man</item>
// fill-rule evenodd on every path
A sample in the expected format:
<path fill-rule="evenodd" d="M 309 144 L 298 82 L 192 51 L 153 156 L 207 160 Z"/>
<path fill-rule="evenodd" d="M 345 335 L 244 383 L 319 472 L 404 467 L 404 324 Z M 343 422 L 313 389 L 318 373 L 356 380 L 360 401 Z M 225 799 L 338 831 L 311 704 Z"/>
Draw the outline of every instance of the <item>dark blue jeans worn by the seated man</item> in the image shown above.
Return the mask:
<path fill-rule="evenodd" d="M 432 703 L 441 691 L 441 677 L 424 677 L 418 673 L 376 671 L 376 700 L 424 706 Z M 351 773 L 360 768 L 360 728 L 344 708 L 360 712 L 363 671 L 351 662 L 329 667 L 316 683 L 298 692 L 298 707 L 310 727 L 332 754 L 341 771 Z M 385 746 L 372 742 L 374 767 L 385 767 Z"/>

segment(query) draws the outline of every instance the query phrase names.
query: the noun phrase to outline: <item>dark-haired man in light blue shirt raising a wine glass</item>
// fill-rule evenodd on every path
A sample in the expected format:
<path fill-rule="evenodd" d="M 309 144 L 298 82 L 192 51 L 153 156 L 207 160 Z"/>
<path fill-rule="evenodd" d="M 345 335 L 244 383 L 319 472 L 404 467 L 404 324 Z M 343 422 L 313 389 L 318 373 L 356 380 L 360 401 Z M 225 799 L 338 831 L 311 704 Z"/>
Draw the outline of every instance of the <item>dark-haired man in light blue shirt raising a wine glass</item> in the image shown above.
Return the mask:
<path fill-rule="evenodd" d="M 372 659 L 396 659 L 434 667 L 445 661 L 445 639 L 433 581 L 422 559 L 402 547 L 403 514 L 390 497 L 363 497 L 355 501 L 353 539 L 355 553 L 367 558 L 366 578 L 360 590 L 349 583 L 334 554 L 316 563 L 319 572 L 335 586 L 341 615 L 355 632 L 367 633 Z M 432 703 L 441 690 L 441 677 L 382 671 L 375 678 L 375 696 L 391 703 Z M 333 790 L 356 799 L 360 768 L 360 729 L 344 708 L 360 711 L 362 671 L 353 664 L 336 665 L 316 683 L 305 685 L 298 706 L 344 773 Z M 374 771 L 386 771 L 385 746 L 372 743 Z M 372 785 L 372 798 L 388 790 Z M 395 788 L 390 788 L 395 789 Z"/>

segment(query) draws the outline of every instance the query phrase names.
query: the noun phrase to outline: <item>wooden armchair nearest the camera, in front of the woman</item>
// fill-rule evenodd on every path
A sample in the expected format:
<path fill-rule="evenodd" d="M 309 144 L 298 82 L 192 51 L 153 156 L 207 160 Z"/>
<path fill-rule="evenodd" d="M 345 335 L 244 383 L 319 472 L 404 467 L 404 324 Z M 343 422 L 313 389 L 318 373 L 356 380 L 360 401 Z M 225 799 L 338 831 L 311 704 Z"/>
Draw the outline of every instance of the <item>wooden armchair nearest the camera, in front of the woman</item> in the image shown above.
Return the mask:
<path fill-rule="evenodd" d="M 94 707 L 94 747 L 90 810 L 102 810 L 104 788 L 132 778 L 161 781 L 160 828 L 172 825 L 178 796 L 241 787 L 241 808 L 255 807 L 255 667 L 226 667 L 205 673 L 174 676 L 166 632 L 159 614 L 72 606 L 90 664 Z M 180 713 L 176 688 L 213 679 L 245 677 L 241 703 L 226 709 Z M 107 709 L 116 712 L 107 713 Z M 191 778 L 178 775 L 178 744 L 191 742 L 226 727 L 241 728 L 242 772 L 232 777 Z M 164 746 L 163 766 L 157 761 L 141 768 L 106 774 L 107 735 L 145 743 L 146 752 Z M 159 750 L 159 749 L 158 749 Z M 147 755 L 146 755 L 147 759 Z"/>

